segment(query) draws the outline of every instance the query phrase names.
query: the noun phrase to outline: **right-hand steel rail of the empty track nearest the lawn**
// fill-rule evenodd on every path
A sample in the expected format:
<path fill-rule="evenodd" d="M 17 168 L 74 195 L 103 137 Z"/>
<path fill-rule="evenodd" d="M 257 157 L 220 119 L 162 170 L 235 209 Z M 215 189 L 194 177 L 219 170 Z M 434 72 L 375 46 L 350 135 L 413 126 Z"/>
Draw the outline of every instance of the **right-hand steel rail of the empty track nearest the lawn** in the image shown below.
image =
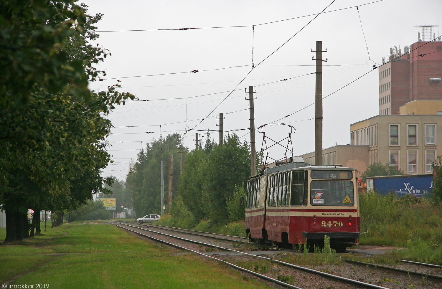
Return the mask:
<path fill-rule="evenodd" d="M 363 288 L 369 288 L 369 289 L 389 289 L 389 288 L 386 288 L 386 287 L 377 286 L 377 285 L 369 284 L 369 283 L 366 283 L 366 282 L 357 281 L 357 280 L 353 280 L 353 279 L 349 279 L 349 278 L 345 278 L 345 277 L 341 277 L 341 276 L 337 276 L 337 275 L 333 275 L 333 274 L 328 274 L 328 273 L 321 272 L 321 271 L 318 271 L 318 270 L 313 270 L 313 269 L 310 269 L 310 268 L 306 268 L 306 267 L 290 264 L 290 263 L 287 263 L 287 262 L 284 262 L 284 261 L 279 261 L 277 259 L 271 259 L 271 258 L 263 257 L 263 256 L 260 256 L 260 255 L 254 255 L 254 254 L 250 254 L 250 253 L 246 253 L 246 252 L 236 251 L 236 250 L 233 250 L 233 249 L 229 249 L 229 248 L 225 248 L 225 247 L 221 247 L 221 246 L 217 246 L 217 245 L 213 245 L 213 244 L 208 244 L 208 243 L 198 242 L 198 241 L 194 241 L 194 240 L 184 239 L 184 238 L 181 238 L 181 237 L 177 237 L 177 236 L 173 236 L 173 235 L 168 235 L 168 234 L 164 234 L 164 233 L 160 233 L 160 232 L 155 232 L 155 231 L 152 231 L 152 230 L 136 227 L 136 226 L 133 226 L 133 225 L 128 225 L 128 224 L 124 224 L 124 225 L 125 226 L 130 226 L 130 227 L 133 227 L 133 228 L 138 228 L 138 229 L 145 230 L 145 231 L 149 231 L 149 232 L 153 232 L 153 233 L 157 233 L 157 234 L 160 234 L 160 235 L 172 237 L 172 238 L 175 238 L 175 239 L 184 240 L 184 241 L 187 241 L 187 242 L 203 244 L 203 245 L 206 245 L 208 247 L 214 247 L 214 248 L 218 248 L 218 249 L 221 249 L 221 250 L 232 251 L 232 252 L 240 253 L 240 254 L 243 254 L 243 255 L 249 255 L 249 256 L 252 256 L 252 257 L 258 257 L 258 258 L 261 258 L 261 259 L 266 259 L 266 260 L 269 260 L 271 262 L 276 262 L 276 263 L 279 263 L 279 264 L 282 264 L 282 265 L 290 266 L 290 267 L 298 269 L 298 270 L 306 271 L 306 272 L 313 273 L 313 274 L 316 274 L 316 275 L 321 275 L 324 278 L 328 278 L 328 279 L 332 279 L 332 280 L 340 281 L 340 282 L 345 282 L 345 283 L 351 284 L 351 285 L 362 286 Z M 205 255 L 205 254 L 203 254 L 203 255 Z"/>

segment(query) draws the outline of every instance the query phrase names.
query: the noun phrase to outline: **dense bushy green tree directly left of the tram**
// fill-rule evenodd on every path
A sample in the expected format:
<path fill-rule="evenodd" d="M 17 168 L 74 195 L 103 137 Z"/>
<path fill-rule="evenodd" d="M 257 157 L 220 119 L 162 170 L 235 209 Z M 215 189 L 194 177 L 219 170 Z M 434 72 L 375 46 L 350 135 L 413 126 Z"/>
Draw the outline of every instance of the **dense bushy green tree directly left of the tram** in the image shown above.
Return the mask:
<path fill-rule="evenodd" d="M 188 154 L 179 192 L 195 218 L 223 223 L 229 219 L 227 202 L 240 190 L 239 186 L 244 190 L 249 175 L 250 151 L 246 141 L 241 143 L 233 133 L 219 146 L 208 137 L 205 148 Z"/>

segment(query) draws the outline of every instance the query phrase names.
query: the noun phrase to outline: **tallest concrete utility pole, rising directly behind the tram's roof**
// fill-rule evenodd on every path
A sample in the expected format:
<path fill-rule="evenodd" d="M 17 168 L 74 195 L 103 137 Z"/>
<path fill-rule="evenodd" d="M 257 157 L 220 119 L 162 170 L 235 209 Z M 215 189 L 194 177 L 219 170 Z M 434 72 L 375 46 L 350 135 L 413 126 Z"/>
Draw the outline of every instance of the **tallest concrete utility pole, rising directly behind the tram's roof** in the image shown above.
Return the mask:
<path fill-rule="evenodd" d="M 322 164 L 322 41 L 316 41 L 315 164 Z"/>

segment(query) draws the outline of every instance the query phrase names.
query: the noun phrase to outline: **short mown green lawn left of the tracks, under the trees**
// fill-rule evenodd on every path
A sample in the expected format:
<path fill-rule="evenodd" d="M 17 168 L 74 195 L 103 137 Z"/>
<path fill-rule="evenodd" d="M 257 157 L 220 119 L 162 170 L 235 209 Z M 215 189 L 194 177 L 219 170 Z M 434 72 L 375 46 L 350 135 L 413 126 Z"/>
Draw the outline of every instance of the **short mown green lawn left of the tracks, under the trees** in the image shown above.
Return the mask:
<path fill-rule="evenodd" d="M 268 288 L 224 264 L 131 236 L 110 224 L 74 222 L 0 244 L 0 280 L 49 288 Z M 0 229 L 4 238 L 5 229 Z M 44 255 L 59 254 L 59 255 Z"/>

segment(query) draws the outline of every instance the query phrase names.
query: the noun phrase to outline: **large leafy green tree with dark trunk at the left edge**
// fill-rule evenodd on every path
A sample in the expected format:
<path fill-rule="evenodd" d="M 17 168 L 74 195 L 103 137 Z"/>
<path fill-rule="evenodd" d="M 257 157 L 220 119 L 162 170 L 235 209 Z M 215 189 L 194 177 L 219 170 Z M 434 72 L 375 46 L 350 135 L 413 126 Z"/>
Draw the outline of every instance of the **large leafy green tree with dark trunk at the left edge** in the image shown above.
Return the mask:
<path fill-rule="evenodd" d="M 39 10 L 36 7 L 43 2 L 46 3 L 46 1 L 35 1 L 36 4 L 30 2 L 28 6 L 22 4 L 19 5 L 18 10 L 14 10 L 13 3 L 15 2 L 13 1 L 4 1 L 0 5 L 9 9 L 8 13 L 15 13 L 20 19 L 26 13 L 30 13 L 31 16 L 37 13 L 36 11 Z M 51 17 L 48 16 L 49 18 L 45 18 L 45 23 L 52 25 L 51 27 L 55 30 L 59 29 L 60 25 L 64 25 L 63 23 L 65 23 L 65 19 L 69 18 L 69 15 L 80 13 L 79 11 L 84 13 L 86 7 L 85 5 L 80 7 L 72 3 L 64 5 L 54 1 L 48 1 L 46 4 L 50 9 L 53 9 L 50 10 L 53 14 L 50 14 Z M 34 10 L 27 11 L 28 8 Z M 46 17 L 48 15 L 45 14 L 46 8 L 42 9 L 38 12 L 41 12 L 42 15 L 37 13 L 38 15 L 34 16 Z M 55 10 L 58 14 L 54 12 Z M 4 11 L 0 9 L 0 13 L 2 12 Z M 100 18 L 101 16 L 97 17 Z M 72 61 L 69 63 L 79 64 L 81 66 L 80 70 L 69 67 L 68 70 L 75 72 L 76 75 L 78 74 L 78 79 L 85 79 L 86 82 L 88 79 L 96 79 L 100 72 L 93 68 L 93 64 L 103 61 L 103 51 L 92 49 L 87 39 L 93 36 L 88 30 L 96 28 L 92 24 L 98 18 L 85 17 L 84 20 L 75 20 L 74 28 L 69 28 L 72 30 L 72 33 L 69 34 L 71 37 L 57 42 L 60 52 L 58 54 L 53 52 L 71 59 Z M 43 24 L 40 20 L 37 17 L 35 21 L 40 23 L 38 25 L 41 26 Z M 6 23 L 11 24 L 17 20 L 12 19 L 11 21 L 6 21 Z M 19 25 L 20 21 L 16 25 Z M 9 29 L 9 32 L 15 31 L 16 27 L 5 28 L 4 23 L 0 17 L 0 25 L 3 25 L 1 26 L 2 31 L 4 29 Z M 19 27 L 21 27 L 20 25 Z M 29 25 L 34 24 L 30 23 Z M 42 29 L 45 31 L 51 30 L 50 27 L 46 27 L 46 24 L 43 25 Z M 5 33 L 8 34 L 8 31 Z M 32 31 L 38 34 L 37 30 Z M 26 30 L 25 32 L 29 31 Z M 25 36 L 23 36 L 23 39 L 27 39 Z M 4 37 L 4 35 L 1 37 Z M 26 45 L 32 46 L 32 41 L 38 43 L 38 41 L 44 41 L 46 38 L 38 39 L 28 39 L 30 42 L 27 42 Z M 17 51 L 21 51 L 20 49 L 23 47 L 18 46 L 16 48 Z M 8 47 L 5 48 L 0 44 L 0 49 L 8 49 Z M 44 50 L 43 52 L 47 53 L 48 51 Z M 24 58 L 34 57 L 34 61 L 37 63 L 41 61 L 38 58 L 39 54 L 37 56 L 32 53 L 26 55 L 21 56 Z M 1 57 L 3 57 L 3 54 L 0 55 L 0 67 L 2 71 L 3 68 L 6 71 L 5 77 L 9 77 L 8 80 L 11 80 L 11 84 L 14 84 L 15 80 L 12 78 L 20 72 L 6 67 L 8 65 L 7 61 L 5 62 Z M 13 55 L 9 57 L 14 59 Z M 31 60 L 26 58 L 23 63 L 26 64 L 26 61 L 30 62 Z M 50 66 L 51 63 L 45 62 L 42 65 Z M 61 64 L 57 63 L 57 65 Z M 63 65 L 63 69 L 67 67 L 66 62 Z M 84 91 L 77 89 L 78 83 L 74 80 L 71 79 L 69 87 L 57 86 L 60 84 L 57 84 L 58 80 L 54 80 L 55 84 L 52 85 L 51 75 L 45 74 L 43 68 L 43 70 L 38 70 L 40 68 L 38 65 L 29 68 L 32 73 L 30 72 L 27 77 L 32 82 L 32 89 L 15 91 L 14 87 L 10 87 L 10 84 L 1 83 L 4 79 L 0 80 L 0 86 L 3 85 L 3 87 L 0 87 L 0 102 L 6 104 L 0 106 L 0 147 L 2 148 L 0 150 L 0 203 L 3 204 L 7 214 L 5 242 L 27 237 L 27 209 L 32 208 L 38 212 L 41 209 L 62 212 L 65 209 L 76 208 L 90 200 L 92 198 L 91 192 L 107 191 L 102 188 L 103 183 L 110 185 L 112 179 L 103 179 L 100 176 L 101 170 L 110 161 L 110 155 L 105 150 L 107 142 L 104 137 L 110 133 L 111 124 L 105 119 L 105 116 L 109 114 L 110 110 L 114 109 L 115 105 L 124 104 L 128 98 L 134 99 L 134 96 L 129 93 L 118 92 L 119 84 L 110 86 L 107 91 L 99 93 L 90 91 L 88 92 L 88 98 L 84 98 L 82 97 Z M 54 69 L 53 72 L 55 71 L 55 74 L 58 74 L 60 79 L 63 80 L 63 72 Z M 45 76 L 44 81 L 39 82 L 38 77 L 33 79 L 33 73 L 37 72 Z M 26 88 L 26 86 L 25 83 L 23 87 Z M 57 90 L 60 87 L 65 89 Z M 8 97 L 2 96 L 1 89 L 6 91 L 6 96 L 17 94 L 18 99 L 26 98 L 27 102 L 23 101 L 22 103 L 25 104 L 15 107 L 8 105 L 11 103 Z M 62 213 L 58 215 L 61 216 Z M 59 220 L 62 219 L 59 218 Z"/>

